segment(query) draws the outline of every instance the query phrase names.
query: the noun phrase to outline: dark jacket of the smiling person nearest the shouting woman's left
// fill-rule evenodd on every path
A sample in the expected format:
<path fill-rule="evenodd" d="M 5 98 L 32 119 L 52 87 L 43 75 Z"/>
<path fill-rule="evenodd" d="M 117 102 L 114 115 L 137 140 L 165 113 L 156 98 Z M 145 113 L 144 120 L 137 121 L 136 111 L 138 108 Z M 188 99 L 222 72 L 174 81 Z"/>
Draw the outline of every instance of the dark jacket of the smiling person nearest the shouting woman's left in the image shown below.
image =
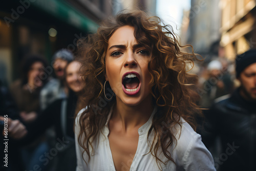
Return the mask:
<path fill-rule="evenodd" d="M 56 143 L 53 148 L 56 154 L 52 156 L 57 158 L 55 170 L 75 170 L 76 153 L 73 124 L 76 105 L 77 96 L 72 91 L 70 91 L 68 98 L 57 99 L 46 110 L 42 111 L 32 123 L 26 124 L 28 134 L 18 143 L 26 144 L 54 125 Z M 50 152 L 53 148 L 50 149 Z M 42 156 L 39 161 L 48 164 L 49 159 L 46 156 Z"/>

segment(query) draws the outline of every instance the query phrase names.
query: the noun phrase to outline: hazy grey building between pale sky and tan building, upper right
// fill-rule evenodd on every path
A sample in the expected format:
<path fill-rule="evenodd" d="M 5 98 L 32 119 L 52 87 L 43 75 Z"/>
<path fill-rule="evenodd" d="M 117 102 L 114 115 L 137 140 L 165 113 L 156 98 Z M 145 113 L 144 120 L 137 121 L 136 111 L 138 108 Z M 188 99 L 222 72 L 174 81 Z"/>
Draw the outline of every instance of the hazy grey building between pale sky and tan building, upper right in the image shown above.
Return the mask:
<path fill-rule="evenodd" d="M 218 56 L 220 18 L 219 0 L 191 0 L 190 12 L 184 12 L 182 42 L 193 45 L 194 51 L 205 58 L 204 62 Z"/>

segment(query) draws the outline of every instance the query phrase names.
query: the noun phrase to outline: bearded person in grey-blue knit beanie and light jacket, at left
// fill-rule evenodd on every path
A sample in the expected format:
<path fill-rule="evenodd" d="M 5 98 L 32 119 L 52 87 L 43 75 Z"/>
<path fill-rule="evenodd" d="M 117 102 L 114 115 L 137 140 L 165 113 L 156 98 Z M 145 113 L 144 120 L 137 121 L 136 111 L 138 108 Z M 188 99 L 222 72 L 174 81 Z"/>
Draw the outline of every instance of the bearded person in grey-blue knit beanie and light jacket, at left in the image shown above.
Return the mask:
<path fill-rule="evenodd" d="M 65 85 L 64 70 L 69 62 L 73 60 L 73 54 L 67 49 L 61 49 L 52 57 L 53 69 L 57 78 L 51 79 L 40 93 L 40 108 L 44 110 L 56 99 L 67 97 L 67 86 Z"/>

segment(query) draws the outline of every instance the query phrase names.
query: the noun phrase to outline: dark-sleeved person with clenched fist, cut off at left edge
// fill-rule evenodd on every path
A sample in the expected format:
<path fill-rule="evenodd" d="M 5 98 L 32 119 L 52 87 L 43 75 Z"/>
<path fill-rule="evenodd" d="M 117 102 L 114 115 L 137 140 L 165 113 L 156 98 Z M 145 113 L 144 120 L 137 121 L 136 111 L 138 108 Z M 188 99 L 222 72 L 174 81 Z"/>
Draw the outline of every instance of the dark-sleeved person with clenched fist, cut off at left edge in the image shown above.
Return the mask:
<path fill-rule="evenodd" d="M 6 119 L 8 135 L 6 136 Z M 13 140 L 20 139 L 27 134 L 26 127 L 20 122 L 19 112 L 17 106 L 12 99 L 8 89 L 1 85 L 0 80 L 0 156 L 4 159 L 6 154 L 8 155 L 8 163 L 2 162 L 0 170 L 24 170 L 24 165 L 21 160 L 19 148 L 16 144 L 13 144 Z M 4 139 L 8 140 L 8 151 L 5 152 Z M 3 160 L 5 161 L 5 160 Z M 8 164 L 4 166 L 5 164 Z"/>

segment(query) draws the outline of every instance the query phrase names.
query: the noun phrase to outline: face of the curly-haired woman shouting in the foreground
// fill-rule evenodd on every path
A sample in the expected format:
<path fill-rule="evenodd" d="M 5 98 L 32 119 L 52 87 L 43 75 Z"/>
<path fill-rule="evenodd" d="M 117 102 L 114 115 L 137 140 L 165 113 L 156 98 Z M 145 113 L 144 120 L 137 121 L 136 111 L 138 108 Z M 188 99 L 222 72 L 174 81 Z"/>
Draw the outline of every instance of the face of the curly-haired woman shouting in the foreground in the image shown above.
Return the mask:
<path fill-rule="evenodd" d="M 123 26 L 109 39 L 106 51 L 106 80 L 116 94 L 117 101 L 138 105 L 151 99 L 147 69 L 149 52 L 134 37 L 134 28 Z"/>

